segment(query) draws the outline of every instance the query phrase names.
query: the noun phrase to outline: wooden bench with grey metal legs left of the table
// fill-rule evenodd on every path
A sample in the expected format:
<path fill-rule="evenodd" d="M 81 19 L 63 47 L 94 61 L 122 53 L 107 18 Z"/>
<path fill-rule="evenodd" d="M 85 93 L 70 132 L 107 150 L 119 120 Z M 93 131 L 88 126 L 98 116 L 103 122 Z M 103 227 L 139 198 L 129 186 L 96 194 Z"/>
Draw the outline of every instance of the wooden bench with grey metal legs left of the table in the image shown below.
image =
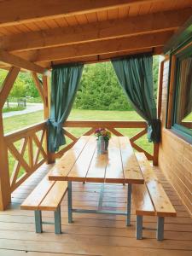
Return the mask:
<path fill-rule="evenodd" d="M 67 192 L 67 182 L 49 181 L 46 175 L 32 193 L 21 204 L 23 210 L 35 212 L 36 233 L 42 233 L 42 211 L 53 211 L 55 218 L 55 234 L 61 234 L 61 201 Z"/>

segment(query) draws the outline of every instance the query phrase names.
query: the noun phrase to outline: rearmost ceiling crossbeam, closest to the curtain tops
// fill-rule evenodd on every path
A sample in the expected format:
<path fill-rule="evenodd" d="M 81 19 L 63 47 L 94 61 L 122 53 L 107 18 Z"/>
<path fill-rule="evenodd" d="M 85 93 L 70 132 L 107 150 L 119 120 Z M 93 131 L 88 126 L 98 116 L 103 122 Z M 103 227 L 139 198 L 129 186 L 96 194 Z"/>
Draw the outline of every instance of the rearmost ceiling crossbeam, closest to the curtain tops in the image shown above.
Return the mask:
<path fill-rule="evenodd" d="M 172 36 L 172 32 L 155 33 L 128 38 L 110 39 L 87 44 L 75 44 L 49 49 L 39 49 L 15 53 L 28 61 L 55 61 L 73 56 L 102 55 L 124 50 L 137 50 L 162 46 Z"/>

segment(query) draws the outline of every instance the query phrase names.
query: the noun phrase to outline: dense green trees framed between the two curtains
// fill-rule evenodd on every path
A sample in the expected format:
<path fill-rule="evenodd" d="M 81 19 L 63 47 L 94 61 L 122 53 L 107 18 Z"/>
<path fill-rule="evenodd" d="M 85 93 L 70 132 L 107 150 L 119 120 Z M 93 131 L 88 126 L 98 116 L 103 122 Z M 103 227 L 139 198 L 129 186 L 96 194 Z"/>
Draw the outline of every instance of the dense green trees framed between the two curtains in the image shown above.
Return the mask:
<path fill-rule="evenodd" d="M 74 108 L 130 110 L 110 62 L 84 66 Z"/>

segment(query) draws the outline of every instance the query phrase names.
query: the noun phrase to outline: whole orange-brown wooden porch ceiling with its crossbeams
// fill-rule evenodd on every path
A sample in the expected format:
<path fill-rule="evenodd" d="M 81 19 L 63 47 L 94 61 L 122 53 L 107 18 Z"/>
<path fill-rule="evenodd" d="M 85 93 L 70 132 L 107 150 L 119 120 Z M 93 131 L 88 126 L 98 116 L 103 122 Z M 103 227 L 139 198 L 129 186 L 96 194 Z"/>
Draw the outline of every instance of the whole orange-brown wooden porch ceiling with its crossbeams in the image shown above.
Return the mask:
<path fill-rule="evenodd" d="M 160 54 L 190 15 L 192 0 L 0 0 L 0 65 L 42 73 L 56 63 Z"/>

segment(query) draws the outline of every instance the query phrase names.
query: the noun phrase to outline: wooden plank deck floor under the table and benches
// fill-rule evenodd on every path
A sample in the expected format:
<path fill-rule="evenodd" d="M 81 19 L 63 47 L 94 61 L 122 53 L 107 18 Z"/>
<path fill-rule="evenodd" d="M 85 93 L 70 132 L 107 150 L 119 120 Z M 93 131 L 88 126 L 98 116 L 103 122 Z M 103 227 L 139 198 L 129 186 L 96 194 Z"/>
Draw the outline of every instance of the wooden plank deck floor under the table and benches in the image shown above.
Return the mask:
<path fill-rule="evenodd" d="M 42 166 L 26 183 L 15 190 L 12 205 L 0 212 L 0 255 L 1 256 L 58 256 L 58 255 L 117 255 L 117 256 L 191 256 L 192 220 L 183 207 L 172 186 L 156 169 L 177 210 L 177 218 L 166 218 L 165 240 L 156 241 L 156 218 L 145 217 L 142 241 L 135 238 L 135 219 L 132 207 L 131 227 L 125 226 L 124 216 L 95 214 L 73 214 L 74 223 L 67 223 L 67 198 L 62 201 L 62 231 L 55 235 L 54 226 L 44 226 L 43 234 L 34 232 L 32 211 L 21 211 L 20 203 L 48 172 Z M 98 206 L 101 185 L 96 183 L 73 183 L 73 205 L 95 209 Z M 126 186 L 105 185 L 103 208 L 124 208 Z M 52 212 L 44 212 L 44 220 L 53 218 Z"/>

